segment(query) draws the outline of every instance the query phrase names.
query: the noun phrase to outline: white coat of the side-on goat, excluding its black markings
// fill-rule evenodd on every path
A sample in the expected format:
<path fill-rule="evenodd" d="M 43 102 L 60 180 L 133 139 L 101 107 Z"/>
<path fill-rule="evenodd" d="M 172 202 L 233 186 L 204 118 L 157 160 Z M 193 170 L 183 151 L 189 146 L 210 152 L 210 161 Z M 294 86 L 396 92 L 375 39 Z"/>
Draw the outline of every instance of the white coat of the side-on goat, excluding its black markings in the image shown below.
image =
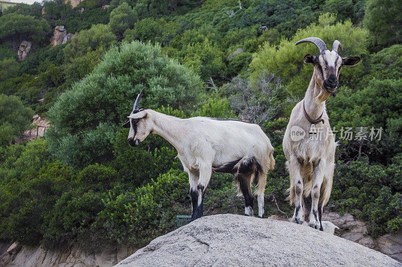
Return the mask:
<path fill-rule="evenodd" d="M 206 117 L 179 119 L 150 109 L 129 118 L 140 119 L 136 136 L 133 136 L 134 131 L 130 131 L 129 138 L 141 142 L 152 132 L 176 148 L 184 171 L 189 174 L 191 190 L 197 190 L 198 185 L 206 188 L 214 167 L 241 158 L 237 164 L 240 165 L 254 157 L 261 166 L 254 193 L 259 196 L 259 214 L 263 213 L 266 175 L 273 169 L 275 160 L 273 147 L 260 126 Z"/>

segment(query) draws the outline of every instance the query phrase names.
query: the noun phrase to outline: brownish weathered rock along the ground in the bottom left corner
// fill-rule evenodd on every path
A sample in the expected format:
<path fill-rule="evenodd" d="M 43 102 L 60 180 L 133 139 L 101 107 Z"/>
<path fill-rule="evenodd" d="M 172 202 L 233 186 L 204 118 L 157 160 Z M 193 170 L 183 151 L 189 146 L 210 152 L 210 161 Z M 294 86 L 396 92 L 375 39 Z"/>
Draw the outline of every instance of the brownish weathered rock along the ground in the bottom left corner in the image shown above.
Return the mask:
<path fill-rule="evenodd" d="M 14 245 L 14 244 L 13 244 Z M 12 246 L 13 246 L 12 245 Z M 87 253 L 75 247 L 64 247 L 56 250 L 40 246 L 17 246 L 4 251 L 6 244 L 0 243 L 0 266 L 113 266 L 138 248 L 129 246 L 107 245 L 101 252 Z M 8 252 L 10 250 L 10 252 Z"/>

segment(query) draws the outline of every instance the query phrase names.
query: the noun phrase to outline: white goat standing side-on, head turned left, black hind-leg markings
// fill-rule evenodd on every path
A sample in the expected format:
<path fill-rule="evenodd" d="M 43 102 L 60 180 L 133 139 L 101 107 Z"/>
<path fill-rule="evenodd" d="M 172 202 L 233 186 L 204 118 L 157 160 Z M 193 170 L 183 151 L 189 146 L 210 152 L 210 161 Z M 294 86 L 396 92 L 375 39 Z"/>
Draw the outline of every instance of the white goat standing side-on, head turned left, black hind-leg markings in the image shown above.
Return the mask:
<path fill-rule="evenodd" d="M 212 171 L 232 173 L 239 193 L 245 198 L 245 214 L 253 216 L 253 177 L 257 182 L 258 216 L 264 213 L 264 190 L 268 170 L 273 169 L 273 147 L 256 124 L 237 120 L 205 117 L 179 119 L 151 109 L 140 109 L 142 92 L 138 95 L 129 121 L 128 142 L 138 145 L 150 133 L 172 144 L 188 173 L 192 215 L 191 221 L 203 216 L 204 194 Z"/>

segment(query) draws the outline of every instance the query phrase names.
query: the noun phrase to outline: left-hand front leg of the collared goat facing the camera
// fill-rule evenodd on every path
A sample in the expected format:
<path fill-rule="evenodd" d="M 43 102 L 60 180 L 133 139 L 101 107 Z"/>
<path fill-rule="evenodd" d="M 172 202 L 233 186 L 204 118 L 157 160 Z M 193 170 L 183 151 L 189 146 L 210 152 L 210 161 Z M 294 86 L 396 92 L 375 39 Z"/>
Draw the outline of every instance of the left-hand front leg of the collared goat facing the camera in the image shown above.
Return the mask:
<path fill-rule="evenodd" d="M 303 224 L 305 220 L 305 211 L 303 205 L 303 165 L 295 158 L 291 157 L 289 160 L 289 176 L 290 184 L 293 185 L 290 190 L 294 190 L 294 214 L 292 222 Z"/>

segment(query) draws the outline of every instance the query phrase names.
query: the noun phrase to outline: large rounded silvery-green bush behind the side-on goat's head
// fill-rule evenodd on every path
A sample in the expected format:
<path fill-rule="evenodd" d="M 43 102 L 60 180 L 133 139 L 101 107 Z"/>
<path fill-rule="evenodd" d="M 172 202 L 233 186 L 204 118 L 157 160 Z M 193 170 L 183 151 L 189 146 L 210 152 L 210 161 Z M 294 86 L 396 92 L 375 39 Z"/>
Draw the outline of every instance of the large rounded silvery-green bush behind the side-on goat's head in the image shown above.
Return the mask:
<path fill-rule="evenodd" d="M 116 127 L 127 120 L 143 87 L 143 107 L 174 103 L 173 108 L 187 113 L 203 91 L 199 78 L 162 56 L 159 46 L 123 43 L 49 110 L 54 126 L 47 132 L 50 149 L 64 163 L 78 166 L 111 159 Z"/>

